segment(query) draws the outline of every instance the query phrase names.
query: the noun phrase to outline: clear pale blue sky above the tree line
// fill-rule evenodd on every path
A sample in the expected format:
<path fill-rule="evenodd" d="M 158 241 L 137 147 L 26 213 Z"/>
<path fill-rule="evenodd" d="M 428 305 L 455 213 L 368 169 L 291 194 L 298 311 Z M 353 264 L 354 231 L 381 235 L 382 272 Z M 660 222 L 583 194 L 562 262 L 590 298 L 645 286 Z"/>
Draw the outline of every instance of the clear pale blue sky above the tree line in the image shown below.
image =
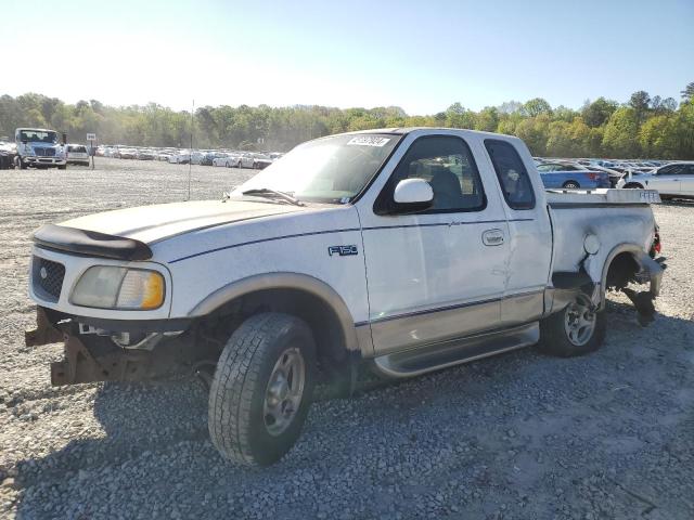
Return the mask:
<path fill-rule="evenodd" d="M 0 0 L 0 94 L 68 103 L 424 115 L 679 101 L 694 81 L 694 0 Z"/>

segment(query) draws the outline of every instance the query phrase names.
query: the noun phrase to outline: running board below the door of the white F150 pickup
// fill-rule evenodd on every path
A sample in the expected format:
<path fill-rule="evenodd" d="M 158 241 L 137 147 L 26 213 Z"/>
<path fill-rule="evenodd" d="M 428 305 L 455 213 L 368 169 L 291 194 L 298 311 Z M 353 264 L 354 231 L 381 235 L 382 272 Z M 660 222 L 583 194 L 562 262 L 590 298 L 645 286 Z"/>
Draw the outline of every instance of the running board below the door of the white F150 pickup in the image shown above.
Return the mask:
<path fill-rule="evenodd" d="M 377 370 L 388 377 L 412 377 L 427 372 L 520 349 L 540 340 L 537 322 L 493 333 L 432 343 L 374 359 Z"/>

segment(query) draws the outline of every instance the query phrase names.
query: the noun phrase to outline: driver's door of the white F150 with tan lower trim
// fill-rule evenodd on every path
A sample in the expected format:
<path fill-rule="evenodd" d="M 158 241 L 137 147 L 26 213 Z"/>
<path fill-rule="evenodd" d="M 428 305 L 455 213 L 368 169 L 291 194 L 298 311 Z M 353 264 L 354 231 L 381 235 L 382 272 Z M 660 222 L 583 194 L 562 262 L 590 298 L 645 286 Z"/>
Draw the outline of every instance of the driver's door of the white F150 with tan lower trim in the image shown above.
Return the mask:
<path fill-rule="evenodd" d="M 359 208 L 376 355 L 499 326 L 509 232 L 486 173 L 462 138 L 421 136 L 373 207 Z M 433 206 L 391 211 L 395 185 L 412 178 L 432 185 Z"/>

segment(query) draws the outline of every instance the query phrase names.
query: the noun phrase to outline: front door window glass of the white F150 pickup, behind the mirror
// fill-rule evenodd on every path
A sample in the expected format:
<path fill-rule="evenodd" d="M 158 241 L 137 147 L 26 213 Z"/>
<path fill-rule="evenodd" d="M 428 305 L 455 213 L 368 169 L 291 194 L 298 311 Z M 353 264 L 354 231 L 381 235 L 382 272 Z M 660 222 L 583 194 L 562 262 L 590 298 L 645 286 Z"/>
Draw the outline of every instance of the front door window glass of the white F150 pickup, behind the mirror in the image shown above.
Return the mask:
<path fill-rule="evenodd" d="M 384 193 L 391 199 L 398 182 L 424 179 L 434 191 L 434 204 L 425 212 L 479 211 L 487 199 L 467 143 L 455 136 L 417 139 L 396 168 Z"/>

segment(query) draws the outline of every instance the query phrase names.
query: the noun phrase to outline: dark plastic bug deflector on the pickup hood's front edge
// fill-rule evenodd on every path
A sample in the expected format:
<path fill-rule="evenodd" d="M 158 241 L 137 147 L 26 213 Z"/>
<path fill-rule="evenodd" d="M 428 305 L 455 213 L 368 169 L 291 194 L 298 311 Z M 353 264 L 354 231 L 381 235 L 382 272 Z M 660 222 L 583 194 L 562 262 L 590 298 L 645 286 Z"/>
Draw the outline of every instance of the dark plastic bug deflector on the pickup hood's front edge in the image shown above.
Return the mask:
<path fill-rule="evenodd" d="M 75 255 L 127 261 L 152 258 L 152 249 L 143 242 L 65 225 L 42 225 L 33 239 L 37 246 Z"/>

